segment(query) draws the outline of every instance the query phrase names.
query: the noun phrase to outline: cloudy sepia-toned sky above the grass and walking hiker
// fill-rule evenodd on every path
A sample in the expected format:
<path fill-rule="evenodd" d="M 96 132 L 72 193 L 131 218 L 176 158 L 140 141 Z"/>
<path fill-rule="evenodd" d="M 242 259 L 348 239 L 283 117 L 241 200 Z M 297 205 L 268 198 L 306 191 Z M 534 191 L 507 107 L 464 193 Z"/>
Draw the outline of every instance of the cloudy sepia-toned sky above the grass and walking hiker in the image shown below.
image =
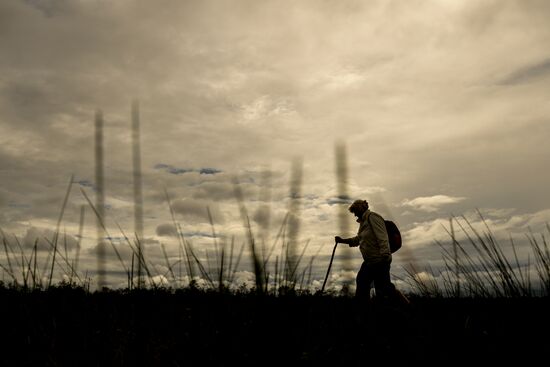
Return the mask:
<path fill-rule="evenodd" d="M 443 267 L 437 243 L 451 243 L 452 216 L 483 228 L 481 214 L 526 262 L 526 233 L 547 233 L 550 219 L 549 18 L 542 0 L 2 1 L 3 237 L 27 256 L 38 241 L 45 257 L 73 177 L 59 228 L 68 256 L 80 243 L 80 270 L 94 273 L 83 192 L 94 202 L 101 111 L 106 236 L 129 266 L 121 229 L 134 232 L 137 102 L 142 242 L 161 281 L 161 249 L 179 259 L 165 190 L 205 262 L 217 241 L 246 242 L 242 208 L 266 248 L 291 211 L 296 251 L 307 244 L 304 259 L 316 256 L 316 286 L 334 236 L 356 231 L 351 214 L 340 220 L 342 188 L 401 229 L 400 287 L 407 265 Z M 109 282 L 124 285 L 111 244 Z M 338 248 L 331 285 L 353 279 L 360 262 L 358 250 Z M 238 270 L 250 282 L 245 260 Z"/>

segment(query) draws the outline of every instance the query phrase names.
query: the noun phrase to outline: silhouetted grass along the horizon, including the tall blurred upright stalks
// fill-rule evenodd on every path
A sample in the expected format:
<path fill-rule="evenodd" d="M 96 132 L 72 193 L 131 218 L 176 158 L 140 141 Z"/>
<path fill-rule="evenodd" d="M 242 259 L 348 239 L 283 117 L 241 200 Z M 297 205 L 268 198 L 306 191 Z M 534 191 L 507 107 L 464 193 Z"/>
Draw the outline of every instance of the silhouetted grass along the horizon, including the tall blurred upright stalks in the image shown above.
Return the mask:
<path fill-rule="evenodd" d="M 288 191 L 289 205 L 286 215 L 280 223 L 272 223 L 270 218 L 271 175 L 266 170 L 263 174 L 264 191 L 260 200 L 264 203 L 265 221 L 261 223 L 257 233 L 251 224 L 251 216 L 245 205 L 244 193 L 239 186 L 237 177 L 233 179 L 233 191 L 238 207 L 244 240 L 236 243 L 234 236 L 219 233 L 215 226 L 213 214 L 208 206 L 205 212 L 210 224 L 212 246 L 210 249 L 198 249 L 197 246 L 183 235 L 182 223 L 176 218 L 168 189 L 164 187 L 167 212 L 170 214 L 171 226 L 177 238 L 177 249 L 174 253 L 167 250 L 163 243 L 156 250 L 161 253 L 160 261 L 151 260 L 145 251 L 146 237 L 144 234 L 144 202 L 142 194 L 141 173 L 141 143 L 139 101 L 134 100 L 130 109 L 130 132 L 132 154 L 132 183 L 134 204 L 134 225 L 131 230 L 124 230 L 116 219 L 118 233 L 113 235 L 108 225 L 105 211 L 104 182 L 104 143 L 103 143 L 103 113 L 97 110 L 95 125 L 95 203 L 84 188 L 80 194 L 87 205 L 80 210 L 78 243 L 73 251 L 68 250 L 67 234 L 61 230 L 65 210 L 69 202 L 74 176 L 71 175 L 65 196 L 57 217 L 55 229 L 51 238 L 34 239 L 34 246 L 26 249 L 15 234 L 8 235 L 0 228 L 3 253 L 0 262 L 3 284 L 22 290 L 48 289 L 54 286 L 54 280 L 60 285 L 94 288 L 99 290 L 108 285 L 109 275 L 107 256 L 114 258 L 116 269 L 111 264 L 111 273 L 124 276 L 124 286 L 127 290 L 141 288 L 205 288 L 226 292 L 242 290 L 243 284 L 238 284 L 236 275 L 247 265 L 246 271 L 252 274 L 251 291 L 265 294 L 318 293 L 321 288 L 319 276 L 315 277 L 315 266 L 327 269 L 329 262 L 320 264 L 321 250 L 318 246 L 315 253 L 308 253 L 309 240 L 302 240 L 302 192 L 303 192 L 303 161 L 295 157 L 290 167 L 290 182 Z M 349 222 L 346 210 L 350 203 L 348 188 L 348 162 L 346 145 L 337 141 L 334 146 L 335 182 L 337 221 L 339 233 L 347 233 Z M 81 240 L 86 212 L 91 212 L 96 224 L 96 268 L 82 269 Z M 405 277 L 395 277 L 402 285 L 407 285 L 411 293 L 426 297 L 531 297 L 550 295 L 550 251 L 543 234 L 536 236 L 528 233 L 527 240 L 532 254 L 527 262 L 519 259 L 516 244 L 510 239 L 512 255 L 506 254 L 504 246 L 485 222 L 478 211 L 485 228 L 476 229 L 465 217 L 451 217 L 449 228 L 449 243 L 436 241 L 441 249 L 444 266 L 433 269 L 431 264 L 420 264 L 411 261 L 406 264 Z M 455 226 L 458 226 L 455 231 Z M 112 227 L 112 226 L 111 226 Z M 550 234 L 550 226 L 546 227 Z M 274 231 L 274 235 L 270 232 Z M 127 233 L 128 232 L 128 233 Z M 457 233 L 458 232 L 458 233 Z M 458 236 L 460 234 L 460 236 Z M 120 241 L 115 243 L 114 238 Z M 270 240 L 271 239 L 271 240 Z M 39 244 L 46 242 L 46 257 L 39 251 Z M 405 248 L 407 243 L 404 244 Z M 401 250 L 405 251 L 405 250 Z M 411 253 L 414 249 L 408 249 Z M 339 260 L 342 269 L 353 273 L 351 253 L 346 247 L 339 247 Z M 41 255 L 41 256 L 39 256 Z M 412 257 L 414 259 L 414 256 Z M 316 263 L 317 261 L 317 263 Z M 522 261 L 524 261 L 522 263 Z M 162 266 L 162 269 L 159 267 Z M 393 268 L 395 270 L 395 268 Z M 533 277 L 533 271 L 537 278 Z M 324 275 L 324 271 L 321 272 Z M 7 278 L 7 279 L 6 279 Z M 329 280 L 329 291 L 331 289 Z M 324 283 L 323 283 L 324 284 Z M 317 285 L 317 286 L 316 286 Z M 350 295 L 353 289 L 353 278 L 349 276 L 342 281 L 342 294 Z"/>

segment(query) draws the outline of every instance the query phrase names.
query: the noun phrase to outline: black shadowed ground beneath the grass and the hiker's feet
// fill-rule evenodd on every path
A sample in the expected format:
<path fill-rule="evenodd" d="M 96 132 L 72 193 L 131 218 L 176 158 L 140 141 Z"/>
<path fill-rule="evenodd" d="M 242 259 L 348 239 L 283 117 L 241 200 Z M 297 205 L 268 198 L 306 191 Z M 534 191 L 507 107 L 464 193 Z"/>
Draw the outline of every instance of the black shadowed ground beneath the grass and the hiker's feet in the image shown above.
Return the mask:
<path fill-rule="evenodd" d="M 367 366 L 547 359 L 550 300 L 0 289 L 0 366 Z"/>

